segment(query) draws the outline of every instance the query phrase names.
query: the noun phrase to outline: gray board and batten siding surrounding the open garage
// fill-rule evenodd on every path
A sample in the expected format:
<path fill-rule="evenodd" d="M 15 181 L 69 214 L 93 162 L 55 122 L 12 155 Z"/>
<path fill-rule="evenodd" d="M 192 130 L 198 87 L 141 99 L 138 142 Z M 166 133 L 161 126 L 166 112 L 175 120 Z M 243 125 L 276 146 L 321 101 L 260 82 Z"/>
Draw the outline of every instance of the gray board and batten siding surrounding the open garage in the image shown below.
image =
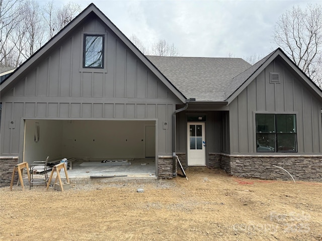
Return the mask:
<path fill-rule="evenodd" d="M 165 78 L 160 80 L 162 74 L 146 66 L 149 61 L 138 56 L 140 52 L 129 47 L 128 40 L 124 44 L 120 36 L 125 37 L 114 32 L 118 31 L 114 25 L 110 25 L 116 29 L 112 31 L 102 21 L 104 16 L 86 13 L 90 10 L 103 15 L 90 6 L 82 21 L 77 17 L 70 31 L 58 33 L 58 41 L 54 37 L 50 48 L 47 45 L 31 57 L 24 71 L 18 69 L 14 81 L 5 86 L 1 95 L 1 156 L 19 156 L 20 162 L 23 160 L 26 119 L 147 121 L 148 125 L 156 125 L 156 157 L 173 155 L 172 114 L 185 97 Z M 83 36 L 87 33 L 105 36 L 102 69 L 82 66 Z M 68 143 L 63 145 L 61 149 L 51 147 L 51 151 L 67 150 Z"/>

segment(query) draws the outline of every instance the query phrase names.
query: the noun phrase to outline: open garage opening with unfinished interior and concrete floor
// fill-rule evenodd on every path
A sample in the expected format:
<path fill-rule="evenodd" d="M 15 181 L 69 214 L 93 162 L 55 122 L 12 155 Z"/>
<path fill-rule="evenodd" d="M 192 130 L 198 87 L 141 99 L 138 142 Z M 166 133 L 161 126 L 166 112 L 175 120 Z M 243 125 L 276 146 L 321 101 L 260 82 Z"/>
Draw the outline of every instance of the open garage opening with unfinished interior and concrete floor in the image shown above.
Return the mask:
<path fill-rule="evenodd" d="M 25 120 L 24 161 L 62 158 L 68 175 L 155 176 L 155 121 Z"/>

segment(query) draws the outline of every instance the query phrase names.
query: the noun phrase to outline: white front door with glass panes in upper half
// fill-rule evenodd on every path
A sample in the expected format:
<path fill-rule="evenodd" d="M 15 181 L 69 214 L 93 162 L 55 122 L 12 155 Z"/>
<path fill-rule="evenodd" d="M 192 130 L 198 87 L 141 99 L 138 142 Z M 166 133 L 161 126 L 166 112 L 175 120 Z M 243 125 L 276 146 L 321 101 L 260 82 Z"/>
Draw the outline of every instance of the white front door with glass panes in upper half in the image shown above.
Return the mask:
<path fill-rule="evenodd" d="M 205 124 L 188 123 L 188 166 L 206 165 Z"/>

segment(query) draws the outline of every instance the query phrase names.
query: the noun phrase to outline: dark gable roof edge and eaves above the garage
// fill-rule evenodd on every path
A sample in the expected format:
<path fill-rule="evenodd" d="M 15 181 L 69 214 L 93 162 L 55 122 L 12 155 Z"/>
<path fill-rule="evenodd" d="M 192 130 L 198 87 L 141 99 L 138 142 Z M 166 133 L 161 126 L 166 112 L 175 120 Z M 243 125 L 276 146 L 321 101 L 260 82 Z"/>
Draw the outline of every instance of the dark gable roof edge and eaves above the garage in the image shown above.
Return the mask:
<path fill-rule="evenodd" d="M 0 85 L 0 91 L 14 85 L 14 81 L 19 79 L 26 69 L 46 53 L 60 41 L 67 33 L 72 31 L 91 14 L 95 14 L 108 28 L 145 64 L 183 103 L 186 102 L 186 97 L 161 73 L 140 51 L 133 43 L 94 5 L 90 4 L 81 14 L 76 16 L 68 25 L 59 31 L 52 39 L 50 39 L 43 47 L 35 52 L 29 59 L 27 59 L 15 72 Z"/>

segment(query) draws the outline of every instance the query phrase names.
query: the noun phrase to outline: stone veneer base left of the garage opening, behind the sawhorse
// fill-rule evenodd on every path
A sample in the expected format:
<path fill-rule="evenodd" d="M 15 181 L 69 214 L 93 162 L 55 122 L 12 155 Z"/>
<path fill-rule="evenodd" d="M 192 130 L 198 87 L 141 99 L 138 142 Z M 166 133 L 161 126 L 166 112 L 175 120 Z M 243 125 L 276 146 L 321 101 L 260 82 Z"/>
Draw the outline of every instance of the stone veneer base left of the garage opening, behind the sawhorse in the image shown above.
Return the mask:
<path fill-rule="evenodd" d="M 18 164 L 18 157 L 0 157 L 0 187 L 10 186 L 12 172 Z M 15 174 L 15 183 L 18 181 L 18 173 Z"/>

